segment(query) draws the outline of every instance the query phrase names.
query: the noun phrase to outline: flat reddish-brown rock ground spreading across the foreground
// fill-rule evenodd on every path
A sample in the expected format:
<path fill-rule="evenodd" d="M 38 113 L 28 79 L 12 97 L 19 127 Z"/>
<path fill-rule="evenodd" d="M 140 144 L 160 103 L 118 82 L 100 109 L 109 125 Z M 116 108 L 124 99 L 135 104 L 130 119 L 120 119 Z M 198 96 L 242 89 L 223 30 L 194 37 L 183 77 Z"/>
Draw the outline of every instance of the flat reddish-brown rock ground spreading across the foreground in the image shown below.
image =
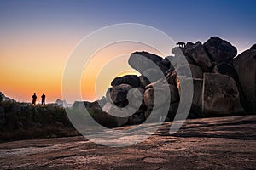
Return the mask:
<path fill-rule="evenodd" d="M 256 116 L 187 120 L 174 134 L 171 124 L 119 148 L 82 136 L 2 143 L 0 169 L 255 169 Z"/>

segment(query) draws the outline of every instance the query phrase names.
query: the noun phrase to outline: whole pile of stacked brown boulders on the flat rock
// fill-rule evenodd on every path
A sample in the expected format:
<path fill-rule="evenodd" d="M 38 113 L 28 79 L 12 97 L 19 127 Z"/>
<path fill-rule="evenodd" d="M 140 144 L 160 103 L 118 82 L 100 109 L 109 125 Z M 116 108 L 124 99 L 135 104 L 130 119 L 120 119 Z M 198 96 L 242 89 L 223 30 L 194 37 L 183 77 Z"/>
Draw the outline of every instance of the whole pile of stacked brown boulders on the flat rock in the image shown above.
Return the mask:
<path fill-rule="evenodd" d="M 187 42 L 183 48 L 173 48 L 174 56 L 166 58 L 135 52 L 129 65 L 141 76 L 114 78 L 102 111 L 112 115 L 123 111 L 120 117 L 114 115 L 119 117 L 118 126 L 141 123 L 149 116 L 155 122 L 173 120 L 190 90 L 189 118 L 255 113 L 255 47 L 236 57 L 230 42 L 211 37 L 205 43 Z M 193 86 L 186 86 L 189 81 Z M 167 115 L 162 117 L 166 105 Z"/>

